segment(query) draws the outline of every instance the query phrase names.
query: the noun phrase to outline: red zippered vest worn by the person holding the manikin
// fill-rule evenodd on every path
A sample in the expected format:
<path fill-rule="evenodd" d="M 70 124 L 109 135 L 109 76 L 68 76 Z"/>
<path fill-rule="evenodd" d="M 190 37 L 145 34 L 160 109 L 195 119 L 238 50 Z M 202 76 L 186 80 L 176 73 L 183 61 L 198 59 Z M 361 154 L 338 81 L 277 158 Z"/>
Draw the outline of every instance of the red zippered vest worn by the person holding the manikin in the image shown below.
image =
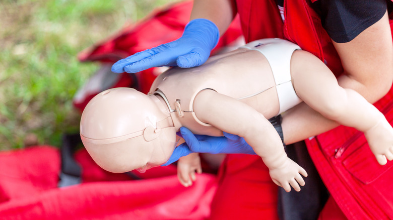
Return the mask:
<path fill-rule="evenodd" d="M 236 4 L 247 42 L 286 38 L 323 60 L 336 75 L 342 72 L 339 56 L 309 1 L 284 1 L 284 24 L 275 0 L 237 0 Z M 390 89 L 374 104 L 390 123 L 392 96 Z M 306 145 L 323 182 L 348 218 L 393 218 L 393 162 L 380 166 L 361 132 L 340 126 L 306 140 Z"/>

